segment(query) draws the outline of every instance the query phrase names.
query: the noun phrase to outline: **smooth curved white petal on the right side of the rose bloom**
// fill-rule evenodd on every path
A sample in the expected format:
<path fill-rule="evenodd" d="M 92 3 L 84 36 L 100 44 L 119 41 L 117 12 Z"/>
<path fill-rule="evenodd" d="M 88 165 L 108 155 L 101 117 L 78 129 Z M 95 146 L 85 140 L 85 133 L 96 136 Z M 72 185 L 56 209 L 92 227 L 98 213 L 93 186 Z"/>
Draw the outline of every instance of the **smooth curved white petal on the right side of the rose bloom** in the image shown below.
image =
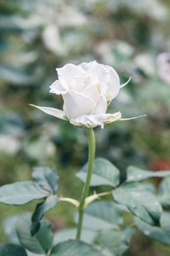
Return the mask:
<path fill-rule="evenodd" d="M 109 88 L 107 92 L 107 100 L 113 100 L 115 98 L 119 91 L 120 91 L 120 79 L 118 76 L 118 73 L 110 66 L 106 66 L 108 69 L 110 69 L 110 82 L 109 82 Z"/>

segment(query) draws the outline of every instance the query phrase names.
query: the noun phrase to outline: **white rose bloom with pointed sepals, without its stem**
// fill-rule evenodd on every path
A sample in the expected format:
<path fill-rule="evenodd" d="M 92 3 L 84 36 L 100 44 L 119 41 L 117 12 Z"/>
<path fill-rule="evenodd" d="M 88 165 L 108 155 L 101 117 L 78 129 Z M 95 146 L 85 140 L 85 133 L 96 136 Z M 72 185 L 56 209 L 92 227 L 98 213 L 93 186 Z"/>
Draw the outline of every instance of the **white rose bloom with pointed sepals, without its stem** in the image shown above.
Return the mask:
<path fill-rule="evenodd" d="M 50 92 L 62 95 L 63 111 L 42 106 L 37 108 L 78 126 L 101 125 L 103 128 L 105 123 L 125 120 L 121 119 L 120 112 L 106 114 L 108 103 L 129 82 L 120 86 L 118 73 L 112 67 L 91 61 L 80 65 L 67 64 L 56 71 L 58 80 L 50 86 Z"/>

